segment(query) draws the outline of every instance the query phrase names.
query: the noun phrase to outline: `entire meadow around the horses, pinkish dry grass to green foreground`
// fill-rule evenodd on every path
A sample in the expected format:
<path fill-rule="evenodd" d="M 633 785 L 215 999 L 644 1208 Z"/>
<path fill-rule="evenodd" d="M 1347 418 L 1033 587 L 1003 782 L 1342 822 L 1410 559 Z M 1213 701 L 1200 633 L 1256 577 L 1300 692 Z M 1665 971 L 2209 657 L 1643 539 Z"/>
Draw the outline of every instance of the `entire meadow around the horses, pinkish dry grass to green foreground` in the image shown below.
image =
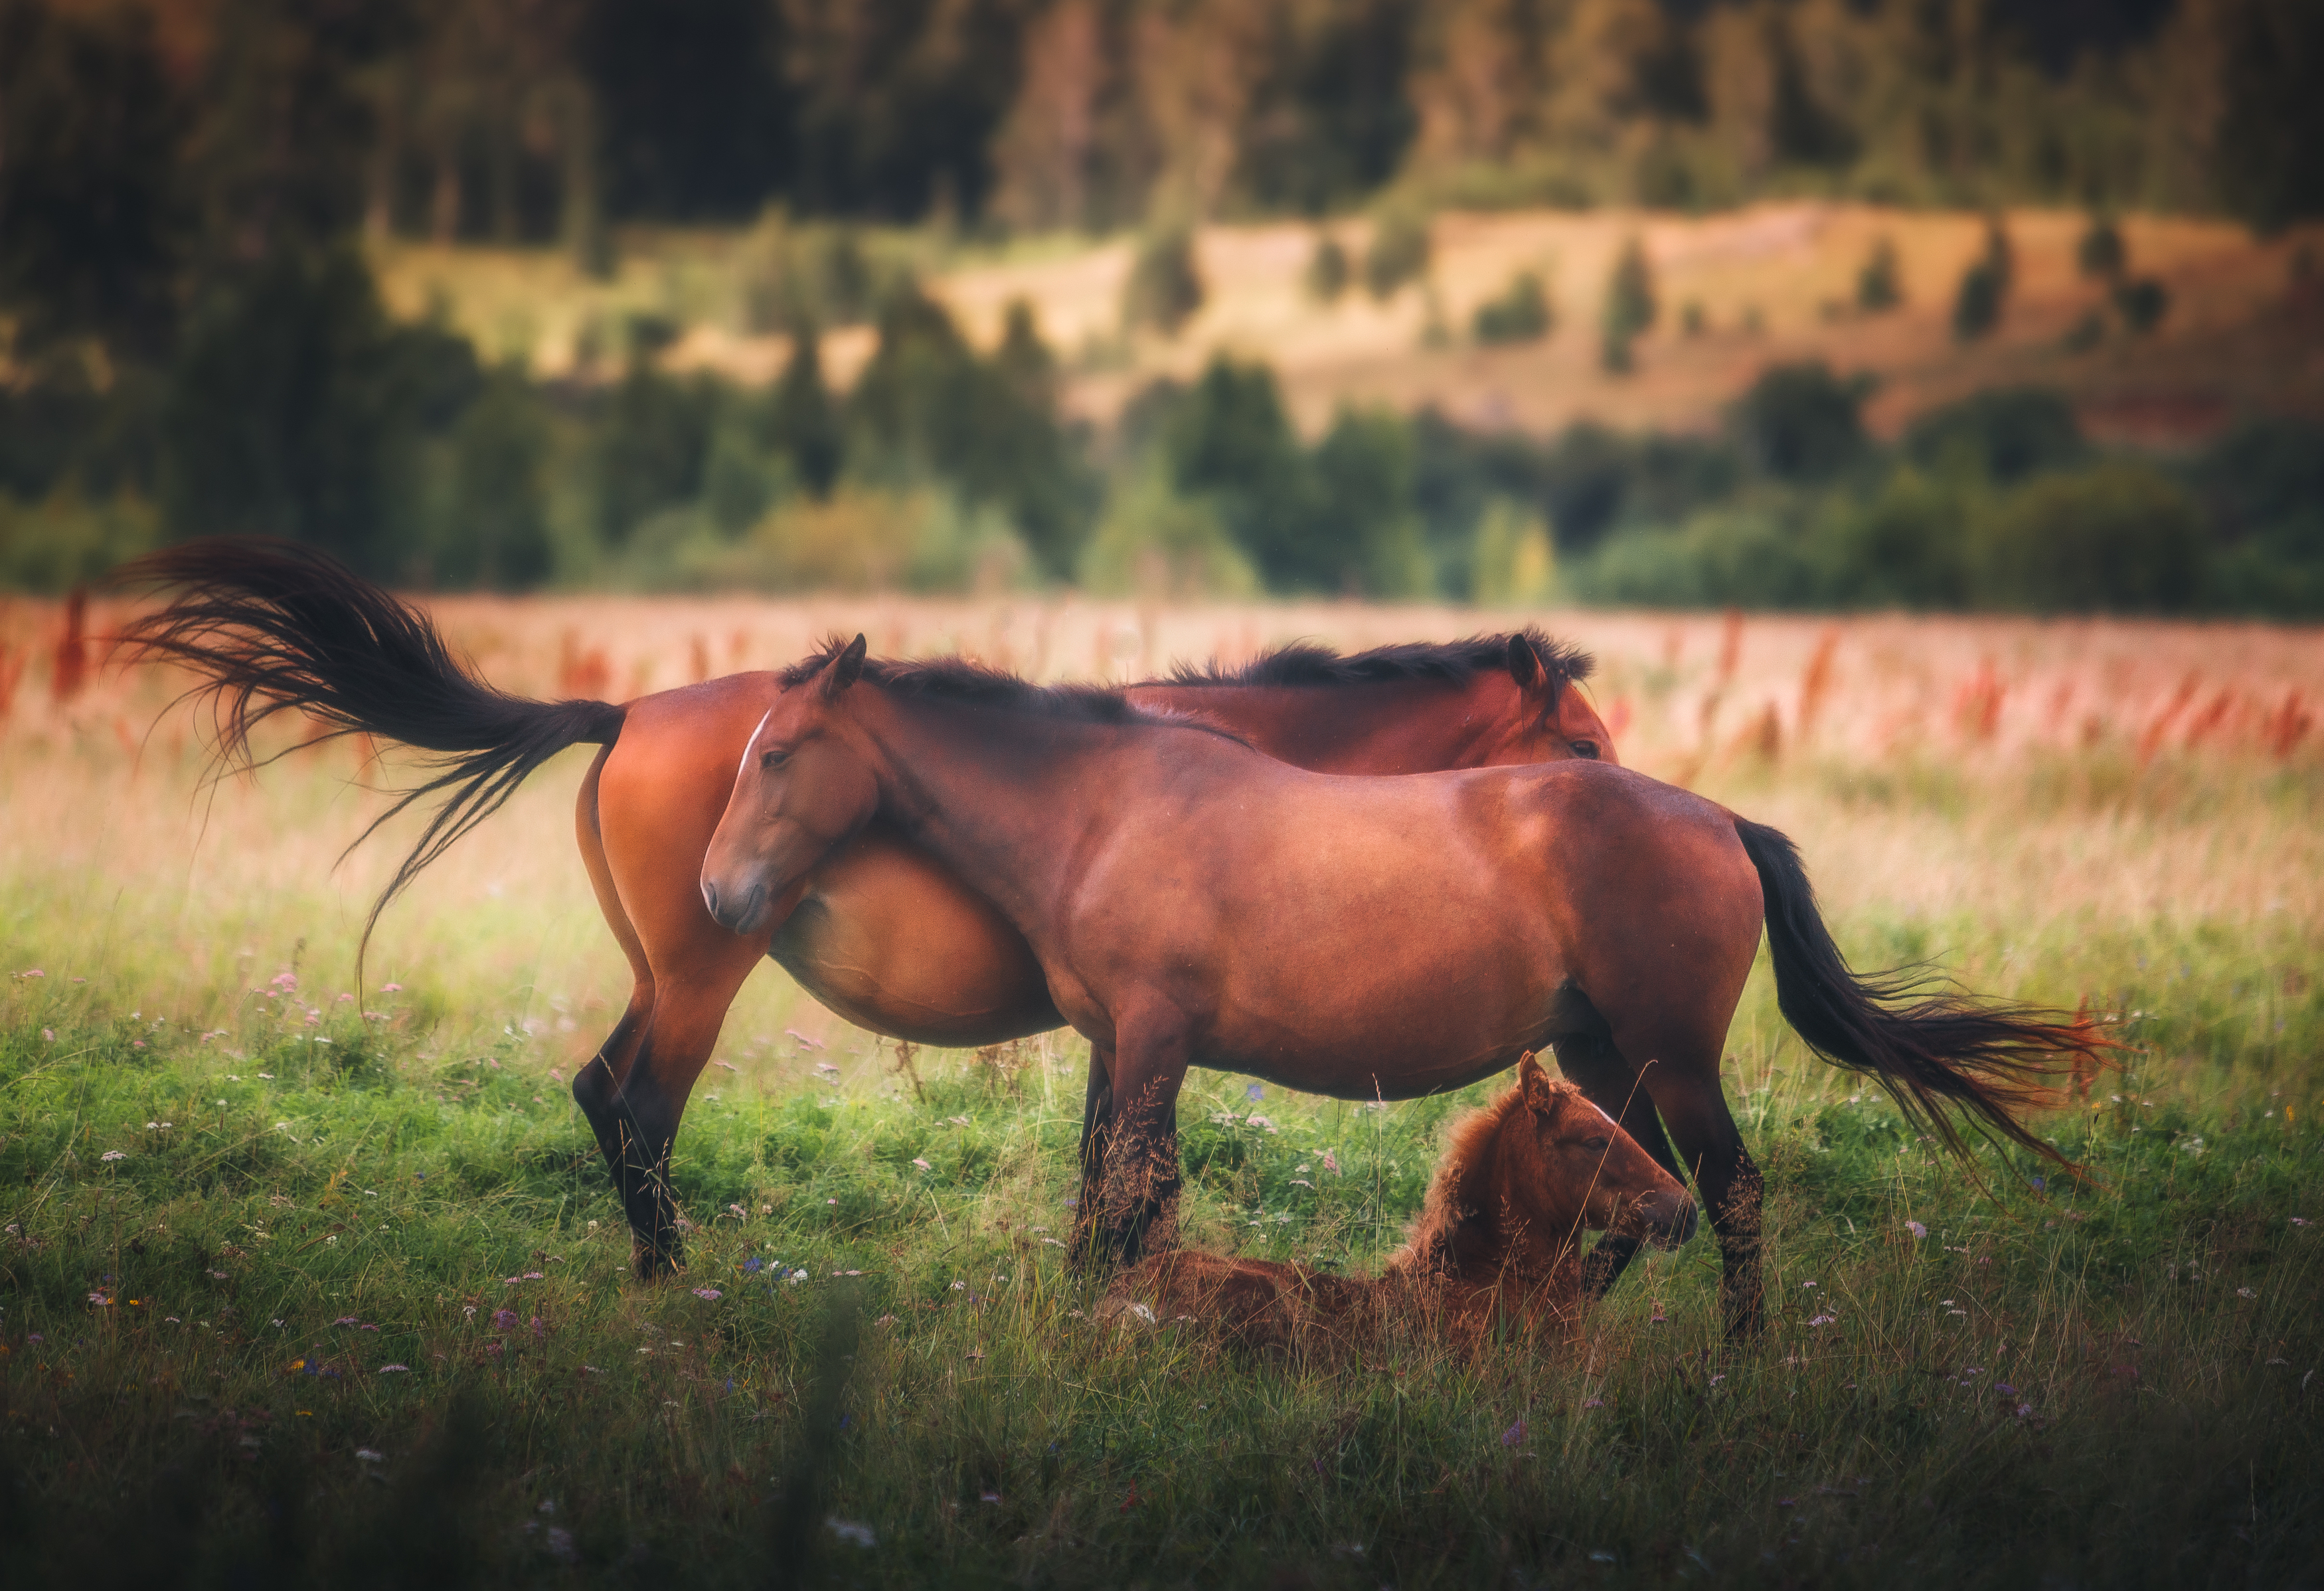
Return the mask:
<path fill-rule="evenodd" d="M 1120 678 L 1508 618 L 439 613 L 504 685 L 616 697 L 825 627 Z M 1717 1340 L 1699 1238 L 1555 1352 L 1253 1366 L 1090 1324 L 1055 1247 L 1078 1041 L 913 1080 L 767 969 L 679 1138 L 693 1266 L 639 1287 L 562 1087 L 627 992 L 572 855 L 581 753 L 388 913 L 358 996 L 409 829 L 335 866 L 383 804 L 353 748 L 205 792 L 172 681 L 58 699 L 56 613 L 7 609 L 9 1582 L 2312 1584 L 2324 636 L 1543 622 L 1601 655 L 1627 762 L 1801 841 L 1859 966 L 2122 1017 L 2124 1071 L 2043 1122 L 2087 1182 L 1945 1161 L 1799 1048 L 1762 966 L 1727 1087 L 1769 1171 L 1764 1340 Z M 1195 1073 L 1192 1238 L 1373 1264 L 1487 1092 Z"/>

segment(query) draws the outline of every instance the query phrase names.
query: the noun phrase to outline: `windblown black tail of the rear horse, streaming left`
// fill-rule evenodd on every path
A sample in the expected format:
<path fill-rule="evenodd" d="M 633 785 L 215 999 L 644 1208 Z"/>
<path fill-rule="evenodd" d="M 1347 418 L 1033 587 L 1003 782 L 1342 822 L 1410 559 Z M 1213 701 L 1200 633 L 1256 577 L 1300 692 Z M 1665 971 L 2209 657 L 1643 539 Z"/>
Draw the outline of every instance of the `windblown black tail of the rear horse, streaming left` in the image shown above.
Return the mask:
<path fill-rule="evenodd" d="M 397 792 L 356 836 L 360 845 L 414 801 L 444 794 L 372 904 L 365 943 L 388 901 L 500 811 L 532 769 L 567 746 L 607 746 L 621 734 L 623 708 L 611 701 L 532 701 L 493 690 L 418 609 L 288 541 L 188 541 L 123 564 L 112 583 L 174 588 L 165 609 L 123 625 L 119 641 L 135 657 L 207 678 L 191 694 L 211 704 L 221 769 L 258 766 L 251 732 L 290 711 L 330 725 L 304 746 L 370 734 L 435 753 L 435 778 Z"/>

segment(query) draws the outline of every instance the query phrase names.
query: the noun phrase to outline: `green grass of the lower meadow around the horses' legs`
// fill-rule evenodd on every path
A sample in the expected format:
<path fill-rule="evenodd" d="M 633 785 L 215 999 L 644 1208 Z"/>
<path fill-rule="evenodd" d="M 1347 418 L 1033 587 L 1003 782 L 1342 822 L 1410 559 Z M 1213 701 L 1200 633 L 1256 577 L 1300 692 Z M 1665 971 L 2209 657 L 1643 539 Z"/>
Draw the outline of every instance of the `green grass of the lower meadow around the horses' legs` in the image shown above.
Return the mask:
<path fill-rule="evenodd" d="M 242 994 L 202 1038 L 102 976 L 19 978 L 16 1584 L 2308 1572 L 2324 1154 L 2280 1050 L 2315 1054 L 2317 999 L 2140 1020 L 2166 1043 L 2052 1120 L 2092 1180 L 2036 1189 L 1992 1152 L 1964 1175 L 1796 1041 L 1745 1041 L 1776 1031 L 1762 982 L 1731 1096 L 1771 1182 L 1764 1342 L 1717 1342 L 1697 1240 L 1562 1352 L 1287 1370 L 1090 1324 L 1053 1245 L 1062 1045 L 1013 1078 L 923 1059 L 925 1099 L 867 1061 L 844 1089 L 711 1071 L 681 1138 L 693 1266 L 639 1287 L 521 1029 L 486 1045 L 416 994 L 309 1027 Z M 1243 1089 L 1197 1073 L 1181 1108 L 1195 1233 L 1318 1264 L 1394 1243 L 1462 1103 Z M 1276 1131 L 1215 1120 L 1250 1113 Z"/>

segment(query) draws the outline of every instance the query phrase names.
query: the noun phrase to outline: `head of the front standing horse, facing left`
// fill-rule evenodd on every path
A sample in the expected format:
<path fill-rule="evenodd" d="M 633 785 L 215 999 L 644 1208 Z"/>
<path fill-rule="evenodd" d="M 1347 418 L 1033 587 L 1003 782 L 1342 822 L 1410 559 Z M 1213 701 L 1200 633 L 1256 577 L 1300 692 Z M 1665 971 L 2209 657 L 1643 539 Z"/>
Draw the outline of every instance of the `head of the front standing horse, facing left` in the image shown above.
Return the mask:
<path fill-rule="evenodd" d="M 878 806 L 878 780 L 846 713 L 862 667 L 865 639 L 855 636 L 788 685 L 751 732 L 734 794 L 702 857 L 702 904 L 720 927 L 772 931 L 806 873 Z"/>

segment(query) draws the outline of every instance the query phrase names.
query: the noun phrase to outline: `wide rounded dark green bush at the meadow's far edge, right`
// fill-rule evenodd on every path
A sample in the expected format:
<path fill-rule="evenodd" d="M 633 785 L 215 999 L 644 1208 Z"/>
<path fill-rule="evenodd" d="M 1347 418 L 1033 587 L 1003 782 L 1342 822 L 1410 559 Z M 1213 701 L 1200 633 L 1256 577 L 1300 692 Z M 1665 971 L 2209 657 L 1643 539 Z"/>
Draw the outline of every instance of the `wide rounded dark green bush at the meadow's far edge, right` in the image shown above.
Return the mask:
<path fill-rule="evenodd" d="M 1992 516 L 1980 557 L 1994 606 L 2175 613 L 2203 597 L 2203 516 L 2150 465 L 2036 476 Z"/>

